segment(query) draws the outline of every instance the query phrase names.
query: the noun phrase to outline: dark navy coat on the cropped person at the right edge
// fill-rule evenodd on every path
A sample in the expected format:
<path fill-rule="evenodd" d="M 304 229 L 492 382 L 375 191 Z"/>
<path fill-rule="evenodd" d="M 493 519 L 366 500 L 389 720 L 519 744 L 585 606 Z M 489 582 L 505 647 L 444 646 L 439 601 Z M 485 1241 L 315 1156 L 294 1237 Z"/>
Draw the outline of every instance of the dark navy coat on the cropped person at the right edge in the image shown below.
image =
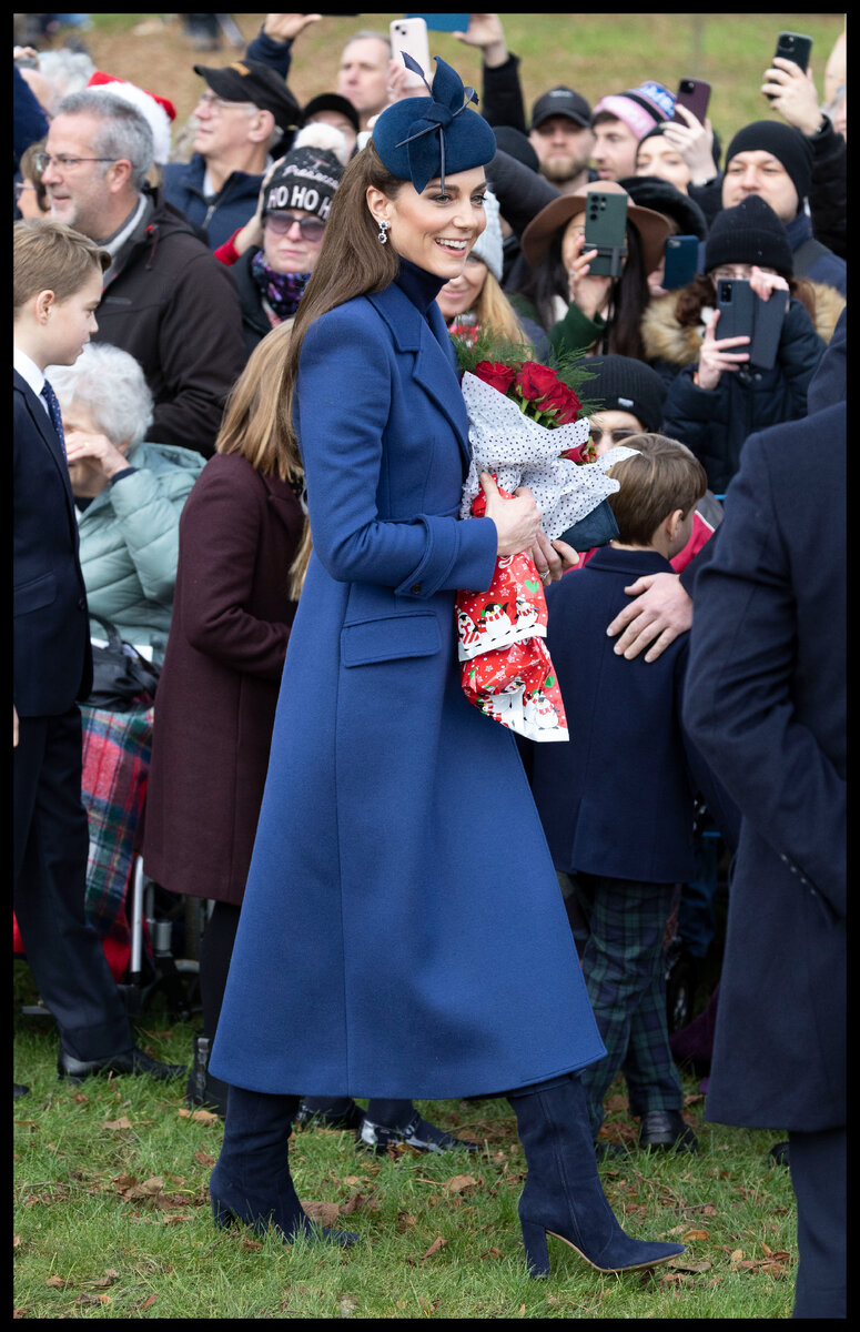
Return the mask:
<path fill-rule="evenodd" d="M 843 402 L 752 436 L 695 585 L 684 717 L 743 815 L 706 1100 L 724 1124 L 845 1123 L 845 591 Z"/>

